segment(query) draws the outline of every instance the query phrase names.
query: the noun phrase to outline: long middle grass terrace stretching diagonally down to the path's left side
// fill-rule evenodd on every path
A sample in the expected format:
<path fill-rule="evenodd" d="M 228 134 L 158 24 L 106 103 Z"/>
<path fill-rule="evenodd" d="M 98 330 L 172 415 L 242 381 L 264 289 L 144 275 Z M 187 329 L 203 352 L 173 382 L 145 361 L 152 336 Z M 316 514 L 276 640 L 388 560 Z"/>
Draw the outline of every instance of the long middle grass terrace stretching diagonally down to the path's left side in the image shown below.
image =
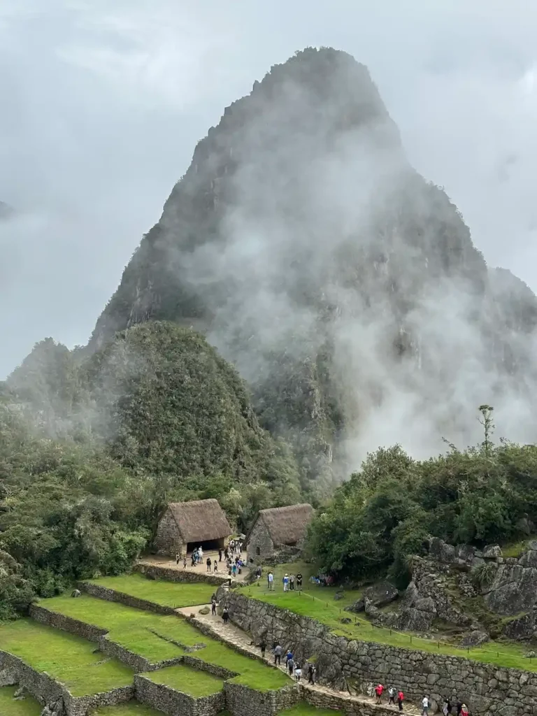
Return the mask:
<path fill-rule="evenodd" d="M 46 609 L 72 616 L 86 624 L 108 630 L 111 641 L 121 644 L 135 654 L 160 662 L 183 654 L 183 649 L 165 639 L 173 639 L 187 647 L 200 642 L 203 649 L 192 652 L 190 656 L 202 659 L 210 664 L 229 669 L 240 674 L 238 682 L 251 685 L 258 690 L 277 689 L 289 682 L 289 679 L 277 669 L 238 654 L 226 644 L 205 637 L 188 621 L 178 616 L 163 616 L 150 611 L 133 609 L 113 601 L 104 601 L 82 594 L 78 599 L 70 596 L 57 596 L 43 599 L 40 604 Z"/>

